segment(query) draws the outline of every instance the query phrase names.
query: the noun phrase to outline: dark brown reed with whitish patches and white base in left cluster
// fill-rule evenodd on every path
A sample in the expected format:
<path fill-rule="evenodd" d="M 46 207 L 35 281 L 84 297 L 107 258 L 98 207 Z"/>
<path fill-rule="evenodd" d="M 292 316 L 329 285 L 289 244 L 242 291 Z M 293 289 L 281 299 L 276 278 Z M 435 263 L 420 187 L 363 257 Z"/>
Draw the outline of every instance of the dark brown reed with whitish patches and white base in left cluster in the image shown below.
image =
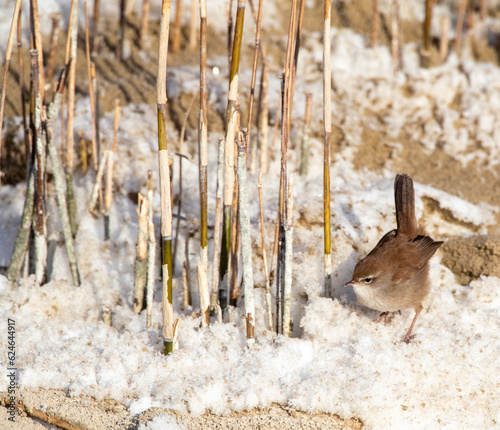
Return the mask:
<path fill-rule="evenodd" d="M 47 231 L 45 225 L 45 145 L 42 139 L 42 98 L 40 93 L 40 75 L 38 72 L 38 51 L 30 50 L 31 75 L 32 75 L 32 97 L 34 106 L 34 142 L 35 142 L 35 278 L 36 283 L 41 285 L 47 265 Z"/>

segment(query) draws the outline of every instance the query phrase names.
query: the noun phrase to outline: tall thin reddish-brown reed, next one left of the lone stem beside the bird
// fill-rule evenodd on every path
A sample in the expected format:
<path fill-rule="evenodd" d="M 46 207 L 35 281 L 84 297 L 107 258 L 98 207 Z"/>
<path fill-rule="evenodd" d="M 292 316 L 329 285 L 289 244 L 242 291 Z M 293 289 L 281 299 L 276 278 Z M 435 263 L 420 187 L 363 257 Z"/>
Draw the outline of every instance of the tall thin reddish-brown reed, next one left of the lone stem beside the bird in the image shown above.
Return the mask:
<path fill-rule="evenodd" d="M 288 27 L 288 40 L 286 50 L 285 71 L 282 74 L 282 101 L 281 101 L 281 170 L 280 170 L 280 190 L 279 190 L 279 243 L 278 243 L 278 273 L 276 282 L 276 329 L 278 333 L 283 333 L 283 290 L 285 281 L 285 223 L 286 223 L 286 196 L 287 196 L 287 153 L 288 139 L 290 134 L 290 120 L 293 96 L 293 55 L 295 51 L 295 38 L 297 36 L 297 0 L 292 1 L 290 22 Z"/>

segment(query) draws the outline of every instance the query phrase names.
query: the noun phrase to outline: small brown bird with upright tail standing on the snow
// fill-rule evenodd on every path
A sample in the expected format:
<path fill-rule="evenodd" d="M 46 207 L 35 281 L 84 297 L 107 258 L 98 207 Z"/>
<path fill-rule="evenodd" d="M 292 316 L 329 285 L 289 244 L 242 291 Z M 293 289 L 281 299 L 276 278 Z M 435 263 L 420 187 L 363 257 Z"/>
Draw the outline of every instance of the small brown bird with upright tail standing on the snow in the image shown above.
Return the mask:
<path fill-rule="evenodd" d="M 415 217 L 413 180 L 396 175 L 394 181 L 397 229 L 387 233 L 373 250 L 354 268 L 352 281 L 358 301 L 371 309 L 388 312 L 415 309 L 415 318 L 403 341 L 408 343 L 411 331 L 429 294 L 429 260 L 443 244 L 426 236 Z"/>

